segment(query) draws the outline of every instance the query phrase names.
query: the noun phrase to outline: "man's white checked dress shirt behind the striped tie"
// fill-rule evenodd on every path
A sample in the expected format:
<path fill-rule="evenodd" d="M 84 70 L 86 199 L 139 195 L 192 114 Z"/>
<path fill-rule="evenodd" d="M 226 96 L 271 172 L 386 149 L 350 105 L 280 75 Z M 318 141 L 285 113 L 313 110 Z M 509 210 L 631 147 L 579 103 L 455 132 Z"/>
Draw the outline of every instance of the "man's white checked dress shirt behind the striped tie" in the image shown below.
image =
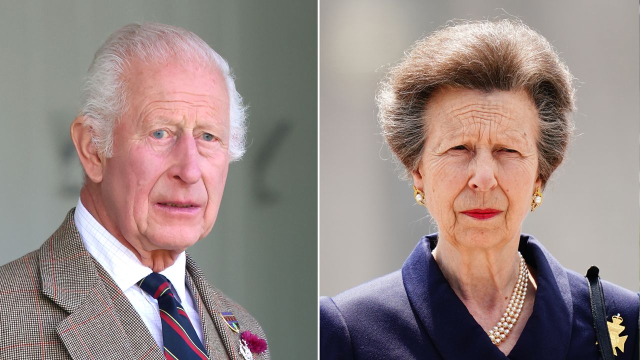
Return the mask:
<path fill-rule="evenodd" d="M 160 348 L 163 348 L 162 323 L 158 309 L 157 300 L 143 291 L 136 283 L 152 273 L 147 266 L 142 265 L 140 260 L 127 249 L 120 241 L 111 235 L 93 215 L 84 208 L 81 200 L 78 199 L 74 221 L 78 233 L 84 242 L 84 247 L 92 254 L 100 265 L 111 275 L 120 290 L 129 299 L 131 305 L 140 315 L 142 321 L 147 325 L 151 335 L 156 340 Z M 172 285 L 173 293 L 182 304 L 193 328 L 202 340 L 202 323 L 198 309 L 195 307 L 193 296 L 186 289 L 185 283 L 186 256 L 182 252 L 173 265 L 160 272 Z M 182 300 L 184 299 L 184 300 Z"/>

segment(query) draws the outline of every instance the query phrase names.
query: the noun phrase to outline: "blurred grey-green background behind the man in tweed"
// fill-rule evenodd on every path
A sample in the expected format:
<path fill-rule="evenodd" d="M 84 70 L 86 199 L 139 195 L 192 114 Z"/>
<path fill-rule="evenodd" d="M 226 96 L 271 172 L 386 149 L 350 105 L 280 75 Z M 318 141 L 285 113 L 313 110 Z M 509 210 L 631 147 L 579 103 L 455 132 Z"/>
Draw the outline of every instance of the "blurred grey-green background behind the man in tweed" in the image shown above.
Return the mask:
<path fill-rule="evenodd" d="M 189 249 L 250 311 L 274 359 L 317 338 L 316 1 L 0 3 L 0 264 L 35 250 L 76 206 L 68 129 L 93 53 L 129 22 L 187 28 L 227 58 L 249 110 L 212 233 Z"/>

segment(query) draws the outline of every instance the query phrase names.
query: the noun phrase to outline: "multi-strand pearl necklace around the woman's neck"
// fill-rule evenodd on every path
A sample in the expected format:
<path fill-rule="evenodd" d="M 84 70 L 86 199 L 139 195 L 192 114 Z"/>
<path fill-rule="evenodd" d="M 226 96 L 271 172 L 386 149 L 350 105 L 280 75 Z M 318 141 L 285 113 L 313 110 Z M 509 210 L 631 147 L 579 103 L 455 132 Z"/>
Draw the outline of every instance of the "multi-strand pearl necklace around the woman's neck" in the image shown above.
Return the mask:
<path fill-rule="evenodd" d="M 509 305 L 507 306 L 506 311 L 504 311 L 504 314 L 502 314 L 502 317 L 500 318 L 500 321 L 497 323 L 497 325 L 487 332 L 491 342 L 495 345 L 500 345 L 500 343 L 506 340 L 507 336 L 509 336 L 511 328 L 518 321 L 518 317 L 520 317 L 520 312 L 522 311 L 522 306 L 524 305 L 524 298 L 525 296 L 527 296 L 529 269 L 527 269 L 527 264 L 525 264 L 524 258 L 522 258 L 522 254 L 520 254 L 519 251 L 518 256 L 520 256 L 518 282 L 516 282 L 516 286 L 513 288 L 513 293 L 511 293 L 511 300 L 509 300 Z"/>

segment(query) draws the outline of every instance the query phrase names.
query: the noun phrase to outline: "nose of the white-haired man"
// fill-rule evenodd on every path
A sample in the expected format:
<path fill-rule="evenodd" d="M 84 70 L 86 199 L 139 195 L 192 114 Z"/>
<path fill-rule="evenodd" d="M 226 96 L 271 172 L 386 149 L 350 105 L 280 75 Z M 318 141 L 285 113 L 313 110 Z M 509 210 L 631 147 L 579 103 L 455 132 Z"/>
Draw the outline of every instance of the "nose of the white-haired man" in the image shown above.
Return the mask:
<path fill-rule="evenodd" d="M 170 176 L 187 184 L 195 184 L 202 177 L 200 153 L 193 136 L 182 135 L 172 149 L 173 167 Z"/>

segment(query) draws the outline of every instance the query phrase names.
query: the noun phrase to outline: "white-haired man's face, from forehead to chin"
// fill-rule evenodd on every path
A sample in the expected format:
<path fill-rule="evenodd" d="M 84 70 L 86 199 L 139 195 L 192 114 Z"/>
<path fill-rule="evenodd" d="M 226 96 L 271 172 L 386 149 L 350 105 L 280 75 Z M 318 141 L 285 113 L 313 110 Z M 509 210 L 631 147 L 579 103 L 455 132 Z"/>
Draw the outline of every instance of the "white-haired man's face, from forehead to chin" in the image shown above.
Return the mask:
<path fill-rule="evenodd" d="M 132 63 L 128 108 L 104 160 L 108 230 L 140 250 L 182 251 L 216 220 L 229 164 L 229 99 L 217 69 Z"/>

